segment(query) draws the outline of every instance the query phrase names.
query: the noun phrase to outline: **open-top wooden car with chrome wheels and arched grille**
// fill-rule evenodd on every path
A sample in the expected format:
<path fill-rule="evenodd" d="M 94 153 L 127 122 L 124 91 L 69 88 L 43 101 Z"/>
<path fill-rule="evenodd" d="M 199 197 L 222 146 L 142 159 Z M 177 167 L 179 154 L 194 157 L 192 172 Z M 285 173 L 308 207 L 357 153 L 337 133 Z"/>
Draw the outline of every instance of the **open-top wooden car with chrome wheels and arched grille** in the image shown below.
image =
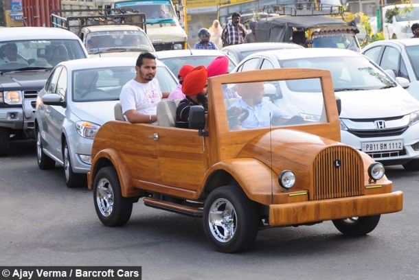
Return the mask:
<path fill-rule="evenodd" d="M 242 98 L 225 99 L 226 89 Z M 293 91 L 293 106 L 276 102 L 283 90 Z M 298 100 L 308 98 L 313 108 L 299 112 Z M 203 217 L 212 245 L 235 253 L 269 226 L 332 220 L 345 235 L 365 235 L 381 214 L 403 208 L 403 193 L 392 191 L 383 165 L 339 143 L 329 71 L 210 78 L 207 123 L 203 108 L 192 106 L 194 129 L 174 127 L 177 103 L 159 103 L 159 126 L 109 121 L 98 130 L 88 181 L 106 226 L 128 222 L 133 203 L 143 198 L 150 207 Z"/>

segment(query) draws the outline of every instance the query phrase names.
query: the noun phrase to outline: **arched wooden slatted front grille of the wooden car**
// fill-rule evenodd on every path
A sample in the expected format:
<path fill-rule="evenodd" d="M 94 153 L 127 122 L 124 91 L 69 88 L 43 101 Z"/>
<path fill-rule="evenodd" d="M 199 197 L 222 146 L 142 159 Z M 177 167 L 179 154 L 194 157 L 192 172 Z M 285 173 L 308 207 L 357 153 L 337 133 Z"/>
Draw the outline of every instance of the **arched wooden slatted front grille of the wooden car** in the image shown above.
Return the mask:
<path fill-rule="evenodd" d="M 336 146 L 319 152 L 311 174 L 310 200 L 363 195 L 363 161 L 353 148 Z"/>

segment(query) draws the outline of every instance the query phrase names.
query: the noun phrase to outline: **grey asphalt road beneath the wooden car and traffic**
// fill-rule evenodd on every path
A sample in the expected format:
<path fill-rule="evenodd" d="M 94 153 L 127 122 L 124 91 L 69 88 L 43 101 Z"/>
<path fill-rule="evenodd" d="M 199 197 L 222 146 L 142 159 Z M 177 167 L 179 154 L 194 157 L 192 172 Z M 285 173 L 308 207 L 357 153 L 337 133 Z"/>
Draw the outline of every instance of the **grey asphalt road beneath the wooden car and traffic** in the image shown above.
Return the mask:
<path fill-rule="evenodd" d="M 1 266 L 142 266 L 142 279 L 419 279 L 419 172 L 387 167 L 404 209 L 363 237 L 332 222 L 260 231 L 251 250 L 218 253 L 202 220 L 134 205 L 120 228 L 103 226 L 92 191 L 69 189 L 62 167 L 39 170 L 34 141 L 0 158 Z"/>

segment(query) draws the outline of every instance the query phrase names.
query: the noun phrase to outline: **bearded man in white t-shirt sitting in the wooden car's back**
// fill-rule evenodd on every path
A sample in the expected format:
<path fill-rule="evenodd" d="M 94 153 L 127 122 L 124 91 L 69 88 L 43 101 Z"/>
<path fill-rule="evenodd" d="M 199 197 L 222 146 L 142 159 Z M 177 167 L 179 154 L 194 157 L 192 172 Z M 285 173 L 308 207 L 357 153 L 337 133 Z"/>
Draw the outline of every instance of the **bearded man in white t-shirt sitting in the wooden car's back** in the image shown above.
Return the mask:
<path fill-rule="evenodd" d="M 159 81 L 155 78 L 156 58 L 149 52 L 138 56 L 135 63 L 137 75 L 128 81 L 121 90 L 122 113 L 127 121 L 135 123 L 154 123 L 157 121 L 157 104 L 168 93 L 161 93 Z"/>

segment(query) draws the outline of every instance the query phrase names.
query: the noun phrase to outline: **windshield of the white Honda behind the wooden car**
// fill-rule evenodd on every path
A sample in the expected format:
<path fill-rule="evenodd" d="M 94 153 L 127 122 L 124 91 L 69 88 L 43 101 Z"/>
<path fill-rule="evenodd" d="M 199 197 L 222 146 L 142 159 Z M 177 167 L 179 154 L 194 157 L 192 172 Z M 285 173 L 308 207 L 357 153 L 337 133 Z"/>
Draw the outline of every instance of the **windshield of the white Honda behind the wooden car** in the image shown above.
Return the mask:
<path fill-rule="evenodd" d="M 305 67 L 329 70 L 332 74 L 335 92 L 383 89 L 396 86 L 383 71 L 363 56 L 296 58 L 282 60 L 280 65 L 282 68 Z M 320 91 L 319 84 L 287 81 L 286 85 L 291 91 Z"/>

